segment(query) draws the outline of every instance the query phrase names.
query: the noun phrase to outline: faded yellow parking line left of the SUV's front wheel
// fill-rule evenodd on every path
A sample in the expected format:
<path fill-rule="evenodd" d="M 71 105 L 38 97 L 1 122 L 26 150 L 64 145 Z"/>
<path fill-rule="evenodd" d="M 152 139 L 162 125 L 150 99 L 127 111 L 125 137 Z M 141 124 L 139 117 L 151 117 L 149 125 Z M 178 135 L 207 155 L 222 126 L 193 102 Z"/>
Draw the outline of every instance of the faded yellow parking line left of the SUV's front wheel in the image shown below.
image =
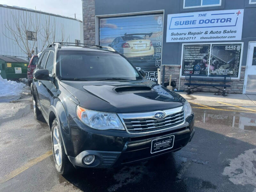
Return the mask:
<path fill-rule="evenodd" d="M 32 167 L 33 165 L 39 163 L 40 161 L 43 161 L 45 158 L 49 157 L 50 155 L 52 155 L 52 151 L 47 151 L 45 154 L 43 154 L 35 159 L 32 159 L 31 161 L 29 161 L 27 164 L 23 165 L 22 167 L 15 169 L 14 171 L 5 175 L 3 177 L 3 179 L 0 180 L 0 183 L 4 183 L 5 181 L 12 179 L 13 177 L 19 175 L 21 172 L 27 170 L 29 167 Z"/>

